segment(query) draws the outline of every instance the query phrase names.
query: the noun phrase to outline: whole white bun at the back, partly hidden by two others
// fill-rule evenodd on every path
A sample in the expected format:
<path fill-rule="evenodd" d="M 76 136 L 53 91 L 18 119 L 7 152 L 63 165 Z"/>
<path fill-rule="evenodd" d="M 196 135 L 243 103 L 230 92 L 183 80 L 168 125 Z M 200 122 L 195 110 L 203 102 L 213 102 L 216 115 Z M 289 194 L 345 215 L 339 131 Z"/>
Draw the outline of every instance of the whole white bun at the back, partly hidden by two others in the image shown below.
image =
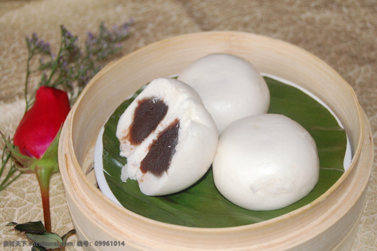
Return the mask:
<path fill-rule="evenodd" d="M 263 77 L 248 61 L 214 53 L 192 62 L 179 75 L 201 96 L 219 134 L 234 120 L 267 113 L 270 92 Z"/>

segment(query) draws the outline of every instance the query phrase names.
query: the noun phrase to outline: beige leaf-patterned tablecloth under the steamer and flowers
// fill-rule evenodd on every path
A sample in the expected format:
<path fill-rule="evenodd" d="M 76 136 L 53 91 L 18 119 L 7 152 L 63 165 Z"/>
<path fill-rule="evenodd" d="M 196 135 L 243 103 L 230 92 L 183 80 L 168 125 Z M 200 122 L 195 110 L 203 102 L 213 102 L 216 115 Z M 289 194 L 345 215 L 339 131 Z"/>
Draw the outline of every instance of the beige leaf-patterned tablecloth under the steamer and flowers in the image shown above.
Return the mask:
<path fill-rule="evenodd" d="M 109 26 L 135 18 L 123 55 L 163 38 L 204 30 L 242 30 L 296 44 L 334 67 L 357 93 L 377 143 L 377 2 L 374 0 L 0 0 L 0 129 L 12 135 L 24 109 L 25 35 L 37 32 L 56 49 L 59 25 L 84 37 L 100 21 Z M 38 77 L 31 79 L 33 91 Z M 3 148 L 0 142 L 0 149 Z M 374 164 L 365 208 L 352 251 L 377 250 L 377 170 Z M 59 174 L 51 180 L 52 229 L 74 228 Z M 32 174 L 23 174 L 0 193 L 0 249 L 3 240 L 26 240 L 9 221 L 43 219 Z M 76 236 L 69 241 L 77 241 Z M 79 247 L 67 250 L 83 250 Z"/>

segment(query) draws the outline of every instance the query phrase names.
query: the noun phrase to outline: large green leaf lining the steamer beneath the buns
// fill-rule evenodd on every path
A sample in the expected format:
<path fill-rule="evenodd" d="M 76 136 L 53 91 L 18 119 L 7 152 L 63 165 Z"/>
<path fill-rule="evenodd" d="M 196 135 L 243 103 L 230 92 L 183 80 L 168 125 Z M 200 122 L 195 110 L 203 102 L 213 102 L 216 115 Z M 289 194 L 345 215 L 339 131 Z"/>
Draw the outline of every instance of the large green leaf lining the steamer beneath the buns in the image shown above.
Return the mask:
<path fill-rule="evenodd" d="M 343 174 L 346 149 L 345 130 L 340 128 L 329 111 L 297 88 L 265 78 L 271 94 L 269 113 L 284 114 L 300 123 L 317 144 L 320 175 L 314 189 L 305 198 L 288 207 L 271 211 L 251 211 L 225 199 L 213 183 L 212 170 L 193 186 L 166 196 L 146 196 L 134 180 L 123 183 L 121 168 L 127 163 L 119 155 L 115 136 L 118 119 L 136 97 L 123 102 L 110 116 L 103 134 L 104 174 L 118 201 L 127 209 L 157 221 L 190 227 L 234 227 L 275 218 L 314 201 L 326 192 Z"/>

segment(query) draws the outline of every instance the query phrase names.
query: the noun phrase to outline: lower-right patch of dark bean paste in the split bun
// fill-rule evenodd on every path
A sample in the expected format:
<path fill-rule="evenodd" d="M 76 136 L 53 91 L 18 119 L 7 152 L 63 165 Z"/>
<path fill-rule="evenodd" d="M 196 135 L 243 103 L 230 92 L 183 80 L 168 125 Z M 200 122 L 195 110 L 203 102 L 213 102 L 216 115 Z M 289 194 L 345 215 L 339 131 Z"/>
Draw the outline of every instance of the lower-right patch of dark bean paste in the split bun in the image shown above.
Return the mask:
<path fill-rule="evenodd" d="M 149 146 L 149 152 L 140 163 L 142 173 L 151 172 L 160 177 L 169 169 L 178 143 L 179 120 L 174 120 Z"/>

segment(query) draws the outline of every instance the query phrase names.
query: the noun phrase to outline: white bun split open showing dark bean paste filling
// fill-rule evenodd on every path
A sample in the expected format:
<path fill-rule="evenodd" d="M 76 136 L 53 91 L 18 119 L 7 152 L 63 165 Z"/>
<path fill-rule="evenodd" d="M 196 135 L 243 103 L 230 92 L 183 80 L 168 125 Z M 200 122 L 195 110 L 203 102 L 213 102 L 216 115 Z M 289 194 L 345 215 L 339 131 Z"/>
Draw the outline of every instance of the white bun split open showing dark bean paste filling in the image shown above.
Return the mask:
<path fill-rule="evenodd" d="M 146 195 L 179 192 L 207 172 L 218 132 L 199 94 L 172 78 L 158 78 L 136 97 L 118 121 L 121 180 L 137 180 Z"/>

